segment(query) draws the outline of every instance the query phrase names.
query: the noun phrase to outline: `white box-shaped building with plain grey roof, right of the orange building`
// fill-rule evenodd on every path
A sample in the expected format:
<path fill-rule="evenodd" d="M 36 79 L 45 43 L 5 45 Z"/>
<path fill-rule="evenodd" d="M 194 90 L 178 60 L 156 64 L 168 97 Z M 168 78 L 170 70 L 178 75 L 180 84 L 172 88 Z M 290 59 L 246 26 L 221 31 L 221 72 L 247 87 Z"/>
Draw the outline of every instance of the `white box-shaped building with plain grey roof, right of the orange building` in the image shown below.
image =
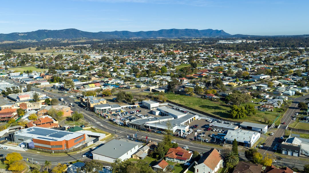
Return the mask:
<path fill-rule="evenodd" d="M 94 160 L 113 163 L 116 159 L 129 159 L 131 156 L 143 147 L 142 143 L 127 140 L 113 139 L 101 147 L 91 151 Z"/>

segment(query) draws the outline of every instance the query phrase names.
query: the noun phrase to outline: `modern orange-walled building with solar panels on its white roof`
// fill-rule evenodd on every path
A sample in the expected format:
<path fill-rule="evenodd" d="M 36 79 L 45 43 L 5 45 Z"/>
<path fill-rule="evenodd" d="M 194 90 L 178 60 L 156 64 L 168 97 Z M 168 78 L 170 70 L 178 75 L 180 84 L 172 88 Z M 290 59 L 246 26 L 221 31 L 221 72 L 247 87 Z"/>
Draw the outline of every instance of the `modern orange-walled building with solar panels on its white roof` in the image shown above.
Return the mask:
<path fill-rule="evenodd" d="M 16 131 L 14 141 L 22 143 L 32 141 L 29 146 L 47 150 L 67 150 L 84 143 L 86 134 L 49 129 L 44 127 L 30 127 Z"/>

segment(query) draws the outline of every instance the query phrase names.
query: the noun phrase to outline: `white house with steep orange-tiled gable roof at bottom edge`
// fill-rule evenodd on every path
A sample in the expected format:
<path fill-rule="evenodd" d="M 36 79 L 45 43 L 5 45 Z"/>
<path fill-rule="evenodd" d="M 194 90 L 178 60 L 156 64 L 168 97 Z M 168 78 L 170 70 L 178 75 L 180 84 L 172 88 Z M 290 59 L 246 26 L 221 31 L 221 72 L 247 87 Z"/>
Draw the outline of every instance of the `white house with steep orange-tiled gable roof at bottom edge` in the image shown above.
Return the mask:
<path fill-rule="evenodd" d="M 195 162 L 194 172 L 217 172 L 219 168 L 223 167 L 223 159 L 219 151 L 215 148 L 210 149 L 201 156 L 197 162 Z M 199 171 L 200 170 L 200 171 Z"/>

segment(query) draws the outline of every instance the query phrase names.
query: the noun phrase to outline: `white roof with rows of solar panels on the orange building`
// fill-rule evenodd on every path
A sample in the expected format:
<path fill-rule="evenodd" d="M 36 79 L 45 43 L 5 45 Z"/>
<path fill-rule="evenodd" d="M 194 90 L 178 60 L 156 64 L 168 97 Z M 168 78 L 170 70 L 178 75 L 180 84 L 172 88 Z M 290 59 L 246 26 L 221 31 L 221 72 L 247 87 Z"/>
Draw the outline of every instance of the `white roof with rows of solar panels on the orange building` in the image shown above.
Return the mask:
<path fill-rule="evenodd" d="M 45 141 L 63 141 L 77 138 L 79 136 L 82 136 L 83 133 L 68 132 L 44 127 L 29 127 L 15 132 L 14 135 L 25 136 L 32 139 L 40 139 Z"/>

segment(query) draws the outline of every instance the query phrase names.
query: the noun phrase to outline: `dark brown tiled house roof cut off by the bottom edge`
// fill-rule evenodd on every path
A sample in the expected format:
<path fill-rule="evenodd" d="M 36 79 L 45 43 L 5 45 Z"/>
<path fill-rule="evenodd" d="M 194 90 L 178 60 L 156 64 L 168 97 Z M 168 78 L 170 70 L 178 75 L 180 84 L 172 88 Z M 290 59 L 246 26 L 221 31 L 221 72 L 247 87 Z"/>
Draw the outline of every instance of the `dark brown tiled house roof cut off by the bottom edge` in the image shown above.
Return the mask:
<path fill-rule="evenodd" d="M 233 173 L 261 173 L 263 165 L 247 162 L 239 162 Z"/>

